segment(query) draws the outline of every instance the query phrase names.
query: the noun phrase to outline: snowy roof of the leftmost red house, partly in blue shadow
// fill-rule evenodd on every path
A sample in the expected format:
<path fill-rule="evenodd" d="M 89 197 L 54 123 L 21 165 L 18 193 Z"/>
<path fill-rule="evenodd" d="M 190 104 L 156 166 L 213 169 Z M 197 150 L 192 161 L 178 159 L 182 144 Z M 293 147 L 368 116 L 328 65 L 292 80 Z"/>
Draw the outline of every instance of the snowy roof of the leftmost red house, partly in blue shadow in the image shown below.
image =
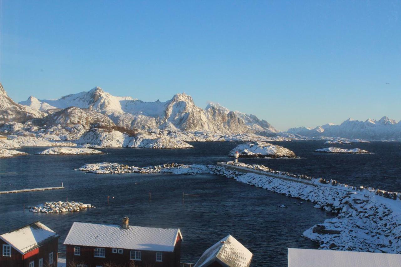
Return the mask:
<path fill-rule="evenodd" d="M 0 238 L 3 241 L 22 254 L 25 254 L 56 237 L 59 237 L 59 235 L 39 221 L 0 235 Z"/>

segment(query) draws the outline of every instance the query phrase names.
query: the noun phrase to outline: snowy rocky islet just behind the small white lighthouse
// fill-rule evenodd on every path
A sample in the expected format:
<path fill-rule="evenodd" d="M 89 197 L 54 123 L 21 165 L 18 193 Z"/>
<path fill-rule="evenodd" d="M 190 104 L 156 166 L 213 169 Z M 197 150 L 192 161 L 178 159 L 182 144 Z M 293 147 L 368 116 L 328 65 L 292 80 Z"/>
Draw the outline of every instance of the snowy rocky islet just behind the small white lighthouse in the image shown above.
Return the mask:
<path fill-rule="evenodd" d="M 235 152 L 239 153 L 240 158 L 294 158 L 295 153 L 282 146 L 273 145 L 266 142 L 249 142 L 240 144 L 231 150 L 228 156 L 235 157 Z"/>

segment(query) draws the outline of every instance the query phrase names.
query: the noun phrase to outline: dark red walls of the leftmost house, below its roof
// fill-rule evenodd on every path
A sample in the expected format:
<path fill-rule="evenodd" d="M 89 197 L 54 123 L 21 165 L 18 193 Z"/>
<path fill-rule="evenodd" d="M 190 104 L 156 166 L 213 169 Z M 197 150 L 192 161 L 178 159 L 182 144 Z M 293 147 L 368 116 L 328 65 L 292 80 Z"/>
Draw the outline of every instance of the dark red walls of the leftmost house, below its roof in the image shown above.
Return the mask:
<path fill-rule="evenodd" d="M 51 241 L 28 251 L 24 255 L 11 247 L 11 257 L 3 257 L 2 251 L 0 254 L 0 267 L 29 267 L 31 261 L 35 262 L 35 267 L 39 266 L 39 259 L 43 258 L 43 267 L 48 267 L 49 253 L 53 252 L 53 265 L 57 267 L 57 251 L 58 251 L 59 238 L 52 239 Z M 0 248 L 3 249 L 4 241 L 0 240 Z"/>

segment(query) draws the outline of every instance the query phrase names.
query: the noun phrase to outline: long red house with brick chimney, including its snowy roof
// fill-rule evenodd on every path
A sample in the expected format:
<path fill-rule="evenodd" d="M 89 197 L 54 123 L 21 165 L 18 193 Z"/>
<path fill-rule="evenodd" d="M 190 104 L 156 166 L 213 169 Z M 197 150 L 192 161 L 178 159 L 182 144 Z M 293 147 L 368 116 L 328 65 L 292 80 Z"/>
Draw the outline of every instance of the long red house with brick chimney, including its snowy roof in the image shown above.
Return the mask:
<path fill-rule="evenodd" d="M 64 241 L 67 267 L 179 267 L 180 229 L 73 223 Z"/>

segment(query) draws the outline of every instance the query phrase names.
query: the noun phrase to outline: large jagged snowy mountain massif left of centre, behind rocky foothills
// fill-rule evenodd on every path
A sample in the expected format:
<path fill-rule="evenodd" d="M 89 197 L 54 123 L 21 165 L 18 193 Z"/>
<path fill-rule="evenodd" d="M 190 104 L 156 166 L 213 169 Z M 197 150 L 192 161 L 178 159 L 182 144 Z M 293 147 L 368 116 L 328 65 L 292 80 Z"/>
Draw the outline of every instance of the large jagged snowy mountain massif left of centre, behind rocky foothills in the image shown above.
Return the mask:
<path fill-rule="evenodd" d="M 90 91 L 66 95 L 57 100 L 29 97 L 20 102 L 36 110 L 79 107 L 108 116 L 115 125 L 138 129 L 169 129 L 182 131 L 212 131 L 222 134 L 275 134 L 267 121 L 255 115 L 229 111 L 219 104 L 210 103 L 206 109 L 197 107 L 191 96 L 178 93 L 161 102 L 144 102 L 132 97 L 115 97 L 95 87 Z"/>

